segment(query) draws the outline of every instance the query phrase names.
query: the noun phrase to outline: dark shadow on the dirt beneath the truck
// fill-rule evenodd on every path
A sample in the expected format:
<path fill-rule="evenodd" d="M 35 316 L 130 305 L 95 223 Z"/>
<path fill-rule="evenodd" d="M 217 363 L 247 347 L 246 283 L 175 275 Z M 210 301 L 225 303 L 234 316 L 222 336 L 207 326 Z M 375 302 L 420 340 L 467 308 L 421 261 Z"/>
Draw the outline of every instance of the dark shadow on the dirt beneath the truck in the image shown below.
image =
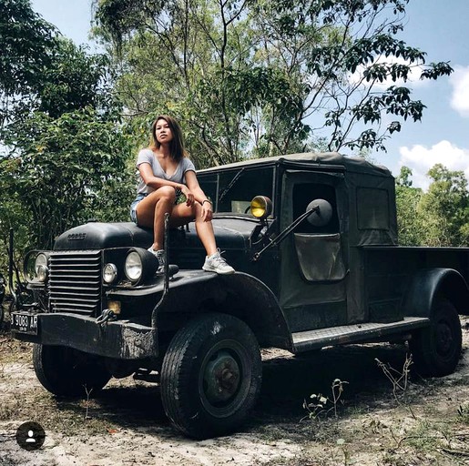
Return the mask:
<path fill-rule="evenodd" d="M 308 357 L 269 350 L 263 362 L 260 400 L 243 430 L 272 423 L 297 424 L 307 413 L 303 400 L 311 393 L 331 394 L 332 380 L 347 381 L 343 393 L 346 405 L 365 403 L 367 407 L 392 399 L 392 386 L 375 359 L 401 369 L 406 356 L 404 345 L 369 345 L 322 349 Z M 279 357 L 272 357 L 279 353 Z M 118 381 L 117 381 L 118 383 Z M 156 384 L 135 385 L 131 379 L 118 386 L 111 383 L 93 400 L 94 417 L 130 429 L 152 428 L 172 431 L 164 413 Z M 83 410 L 76 400 L 53 399 L 57 410 Z M 174 432 L 173 432 L 174 433 Z"/>

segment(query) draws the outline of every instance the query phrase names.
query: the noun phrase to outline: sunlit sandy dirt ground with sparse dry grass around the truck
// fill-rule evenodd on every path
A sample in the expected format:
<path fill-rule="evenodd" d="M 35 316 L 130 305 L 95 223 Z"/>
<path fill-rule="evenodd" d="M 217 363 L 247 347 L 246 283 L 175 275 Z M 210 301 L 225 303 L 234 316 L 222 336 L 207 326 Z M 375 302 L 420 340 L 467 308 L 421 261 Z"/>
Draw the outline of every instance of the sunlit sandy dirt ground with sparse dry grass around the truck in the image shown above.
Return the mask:
<path fill-rule="evenodd" d="M 169 425 L 158 385 L 111 380 L 95 400 L 58 400 L 36 380 L 31 346 L 0 332 L 0 465 L 469 465 L 469 319 L 462 319 L 463 357 L 442 379 L 413 379 L 393 392 L 376 359 L 402 373 L 404 345 L 353 345 L 294 358 L 263 351 L 263 389 L 236 434 L 192 441 Z M 310 419 L 304 400 L 332 398 Z M 332 408 L 328 412 L 329 408 Z M 39 422 L 46 441 L 25 451 L 17 427 Z"/>

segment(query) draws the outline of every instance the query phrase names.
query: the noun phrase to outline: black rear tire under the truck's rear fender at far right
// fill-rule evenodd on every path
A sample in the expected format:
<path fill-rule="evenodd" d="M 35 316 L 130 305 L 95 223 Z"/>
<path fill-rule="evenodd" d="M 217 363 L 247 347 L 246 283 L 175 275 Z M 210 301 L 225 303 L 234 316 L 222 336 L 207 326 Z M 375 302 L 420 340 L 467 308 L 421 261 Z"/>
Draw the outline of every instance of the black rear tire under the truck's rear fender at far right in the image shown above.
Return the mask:
<path fill-rule="evenodd" d="M 454 372 L 461 356 L 463 333 L 453 303 L 436 301 L 431 325 L 413 333 L 409 347 L 413 369 L 423 376 L 442 377 Z"/>

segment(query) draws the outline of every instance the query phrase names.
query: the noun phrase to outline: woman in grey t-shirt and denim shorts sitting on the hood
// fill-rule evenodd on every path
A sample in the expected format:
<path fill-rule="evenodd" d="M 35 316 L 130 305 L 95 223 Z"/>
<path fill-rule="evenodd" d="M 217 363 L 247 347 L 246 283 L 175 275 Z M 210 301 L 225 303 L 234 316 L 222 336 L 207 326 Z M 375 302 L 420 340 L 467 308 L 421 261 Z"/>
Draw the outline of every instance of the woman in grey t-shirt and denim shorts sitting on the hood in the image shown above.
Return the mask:
<path fill-rule="evenodd" d="M 171 228 L 195 219 L 197 234 L 207 251 L 204 270 L 234 273 L 220 256 L 211 223 L 211 202 L 199 187 L 181 128 L 173 117 L 162 115 L 155 120 L 150 146 L 138 152 L 137 167 L 137 198 L 130 206 L 130 217 L 139 227 L 153 228 L 153 244 L 148 250 L 158 258 L 158 272 L 165 265 L 164 218 L 168 212 Z"/>

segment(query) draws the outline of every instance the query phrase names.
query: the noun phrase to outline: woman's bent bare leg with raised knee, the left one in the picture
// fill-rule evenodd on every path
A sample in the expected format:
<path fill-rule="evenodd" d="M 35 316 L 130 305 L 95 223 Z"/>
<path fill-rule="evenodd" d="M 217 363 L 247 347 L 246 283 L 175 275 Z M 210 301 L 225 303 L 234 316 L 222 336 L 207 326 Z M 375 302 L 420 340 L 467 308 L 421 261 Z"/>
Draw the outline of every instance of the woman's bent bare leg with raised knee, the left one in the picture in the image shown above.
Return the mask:
<path fill-rule="evenodd" d="M 164 247 L 165 214 L 171 215 L 176 192 L 174 187 L 159 187 L 148 194 L 137 206 L 138 227 L 153 228 L 154 250 Z"/>

